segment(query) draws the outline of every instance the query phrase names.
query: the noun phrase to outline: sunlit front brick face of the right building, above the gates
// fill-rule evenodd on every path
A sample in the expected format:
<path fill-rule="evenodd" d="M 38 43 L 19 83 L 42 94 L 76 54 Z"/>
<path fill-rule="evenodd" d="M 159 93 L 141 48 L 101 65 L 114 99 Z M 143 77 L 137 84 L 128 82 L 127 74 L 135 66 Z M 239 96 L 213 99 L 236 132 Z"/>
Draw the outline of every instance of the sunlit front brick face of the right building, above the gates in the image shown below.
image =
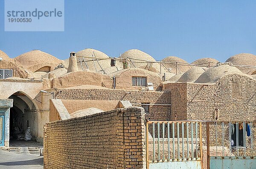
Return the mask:
<path fill-rule="evenodd" d="M 224 76 L 215 85 L 188 84 L 187 91 L 191 120 L 256 120 L 256 80 L 247 76 Z"/>

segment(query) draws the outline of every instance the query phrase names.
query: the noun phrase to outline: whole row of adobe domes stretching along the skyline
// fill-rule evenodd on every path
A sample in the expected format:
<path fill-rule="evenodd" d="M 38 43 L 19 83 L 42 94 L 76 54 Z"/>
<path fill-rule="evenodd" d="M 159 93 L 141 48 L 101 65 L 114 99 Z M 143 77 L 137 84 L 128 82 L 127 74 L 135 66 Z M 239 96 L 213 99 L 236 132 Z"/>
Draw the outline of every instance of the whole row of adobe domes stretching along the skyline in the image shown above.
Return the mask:
<path fill-rule="evenodd" d="M 76 52 L 76 56 L 79 71 L 87 70 L 105 74 L 116 74 L 115 72 L 118 73 L 123 69 L 121 59 L 129 58 L 131 68 L 147 69 L 158 74 L 161 73 L 160 76 L 166 73 L 168 74 L 168 82 L 214 83 L 218 78 L 229 73 L 256 74 L 256 68 L 244 67 L 256 65 L 256 56 L 244 53 L 231 56 L 227 59 L 226 62 L 232 62 L 230 65 L 220 66 L 216 66 L 219 62 L 213 58 L 201 58 L 189 64 L 176 56 L 168 56 L 162 59 L 160 63 L 156 62 L 149 54 L 138 49 L 125 51 L 119 57 L 120 59 L 116 60 L 116 65 L 113 67 L 111 67 L 110 56 L 92 48 L 78 51 Z M 44 78 L 47 78 L 49 73 L 62 76 L 67 73 L 66 68 L 69 63 L 69 59 L 60 60 L 51 54 L 39 50 L 26 52 L 14 59 L 9 58 L 6 53 L 0 51 L 0 57 L 9 62 L 15 61 L 20 68 L 25 68 L 35 74 L 38 73 L 38 76 Z M 60 63 L 63 63 L 66 68 L 55 69 Z"/>

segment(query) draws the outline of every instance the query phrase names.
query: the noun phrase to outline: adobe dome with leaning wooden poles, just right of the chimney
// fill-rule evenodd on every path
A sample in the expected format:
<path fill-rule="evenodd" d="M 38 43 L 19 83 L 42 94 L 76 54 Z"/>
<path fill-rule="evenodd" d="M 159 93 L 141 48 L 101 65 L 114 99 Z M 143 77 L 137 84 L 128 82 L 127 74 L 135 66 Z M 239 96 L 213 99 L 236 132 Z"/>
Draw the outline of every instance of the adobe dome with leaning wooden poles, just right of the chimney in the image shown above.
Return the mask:
<path fill-rule="evenodd" d="M 84 70 L 89 69 L 92 72 L 99 72 L 99 71 L 102 71 L 102 69 L 104 70 L 105 68 L 108 68 L 111 66 L 110 65 L 111 59 L 106 59 L 106 58 L 110 58 L 110 57 L 101 51 L 97 51 L 96 49 L 86 48 L 84 50 L 78 51 L 76 53 L 76 55 L 77 55 L 77 57 L 76 57 L 77 66 L 78 66 L 79 71 L 82 71 L 82 67 L 83 67 Z M 94 59 L 94 62 L 93 62 L 92 58 L 80 57 L 81 62 L 82 62 L 82 66 L 81 66 L 81 62 L 79 62 L 80 61 L 79 56 L 96 57 L 96 58 L 102 58 L 104 60 L 98 59 L 98 61 L 97 61 L 96 59 Z M 88 68 L 83 61 L 86 61 Z"/>

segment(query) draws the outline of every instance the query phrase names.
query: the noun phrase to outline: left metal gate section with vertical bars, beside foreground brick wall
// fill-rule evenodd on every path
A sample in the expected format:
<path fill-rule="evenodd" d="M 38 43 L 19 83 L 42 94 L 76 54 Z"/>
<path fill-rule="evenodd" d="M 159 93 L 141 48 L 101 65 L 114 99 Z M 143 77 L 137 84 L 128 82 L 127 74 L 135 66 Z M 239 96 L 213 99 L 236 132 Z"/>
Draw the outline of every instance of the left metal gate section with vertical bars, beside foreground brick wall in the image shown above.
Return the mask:
<path fill-rule="evenodd" d="M 147 121 L 147 169 L 202 169 L 202 123 Z"/>

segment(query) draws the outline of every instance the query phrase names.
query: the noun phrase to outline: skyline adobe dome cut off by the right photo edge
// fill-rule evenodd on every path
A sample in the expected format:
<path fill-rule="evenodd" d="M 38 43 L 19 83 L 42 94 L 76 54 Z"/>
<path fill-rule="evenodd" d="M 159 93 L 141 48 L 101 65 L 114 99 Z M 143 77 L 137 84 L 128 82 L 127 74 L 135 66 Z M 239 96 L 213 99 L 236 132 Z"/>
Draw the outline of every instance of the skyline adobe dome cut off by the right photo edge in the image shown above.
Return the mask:
<path fill-rule="evenodd" d="M 231 56 L 227 59 L 226 62 L 232 62 L 233 65 L 248 65 L 248 66 L 256 66 L 256 55 L 253 54 L 237 54 Z M 237 67 L 241 72 L 251 75 L 256 68 L 241 68 Z"/>

